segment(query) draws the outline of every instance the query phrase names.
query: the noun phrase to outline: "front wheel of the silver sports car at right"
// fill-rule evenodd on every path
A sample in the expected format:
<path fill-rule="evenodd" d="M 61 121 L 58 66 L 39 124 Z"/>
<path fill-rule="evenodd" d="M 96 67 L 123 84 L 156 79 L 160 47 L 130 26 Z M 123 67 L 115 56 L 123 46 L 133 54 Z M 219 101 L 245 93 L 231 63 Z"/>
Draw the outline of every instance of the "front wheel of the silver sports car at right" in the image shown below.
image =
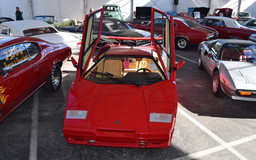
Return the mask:
<path fill-rule="evenodd" d="M 220 72 L 217 70 L 214 72 L 212 79 L 212 93 L 215 97 L 224 97 L 225 93 L 220 86 Z"/>

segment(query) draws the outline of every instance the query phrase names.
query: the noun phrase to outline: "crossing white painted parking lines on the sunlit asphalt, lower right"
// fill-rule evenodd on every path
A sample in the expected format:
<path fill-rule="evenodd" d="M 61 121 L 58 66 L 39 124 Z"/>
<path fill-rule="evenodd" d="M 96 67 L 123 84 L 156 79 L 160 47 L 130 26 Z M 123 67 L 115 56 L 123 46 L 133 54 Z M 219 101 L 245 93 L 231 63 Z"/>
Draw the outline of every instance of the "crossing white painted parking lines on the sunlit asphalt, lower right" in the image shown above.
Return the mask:
<path fill-rule="evenodd" d="M 178 103 L 178 106 L 182 106 L 180 103 Z M 183 106 L 182 106 L 183 107 Z M 205 156 L 205 155 L 209 155 L 213 152 L 217 152 L 219 150 L 222 149 L 228 149 L 230 152 L 232 152 L 234 155 L 236 155 L 236 157 L 238 157 L 239 159 L 242 160 L 247 160 L 243 155 L 241 155 L 238 151 L 236 151 L 234 148 L 232 148 L 235 145 L 244 143 L 249 140 L 253 140 L 256 138 L 256 135 L 252 135 L 246 138 L 243 138 L 241 140 L 236 140 L 230 143 L 226 143 L 224 140 L 222 140 L 219 136 L 217 136 L 216 134 L 214 134 L 212 131 L 210 131 L 208 128 L 206 128 L 203 124 L 199 123 L 196 119 L 194 119 L 192 116 L 188 115 L 185 111 L 183 111 L 180 107 L 178 107 L 178 112 L 181 113 L 183 116 L 185 116 L 186 118 L 188 118 L 191 122 L 193 122 L 194 124 L 196 124 L 196 126 L 198 126 L 201 130 L 203 130 L 205 133 L 207 133 L 209 136 L 211 136 L 214 140 L 216 140 L 217 142 L 219 142 L 221 145 L 214 147 L 214 148 L 210 148 L 210 149 L 206 149 L 204 151 L 200 151 L 197 153 L 193 153 L 187 156 L 183 156 L 180 157 L 181 159 L 185 158 L 185 159 L 193 159 L 196 158 L 195 156 Z"/>

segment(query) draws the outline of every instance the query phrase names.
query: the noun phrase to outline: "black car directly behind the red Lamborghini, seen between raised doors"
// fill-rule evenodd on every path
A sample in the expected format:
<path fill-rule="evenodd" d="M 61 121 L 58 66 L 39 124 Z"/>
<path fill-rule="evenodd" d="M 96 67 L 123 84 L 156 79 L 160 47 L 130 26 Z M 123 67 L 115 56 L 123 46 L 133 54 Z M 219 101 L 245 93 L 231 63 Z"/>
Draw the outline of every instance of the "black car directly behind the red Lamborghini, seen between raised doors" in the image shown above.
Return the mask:
<path fill-rule="evenodd" d="M 77 26 L 69 26 L 63 28 L 56 28 L 60 31 L 69 31 L 74 33 L 83 33 L 84 22 Z M 94 32 L 98 31 L 97 23 L 95 23 Z M 107 44 L 118 44 L 118 40 L 108 39 L 108 36 L 121 36 L 121 37 L 150 37 L 150 32 L 143 31 L 139 29 L 134 29 L 127 24 L 125 21 L 120 21 L 116 19 L 103 20 L 101 28 L 100 41 L 98 47 L 102 47 Z M 155 33 L 155 37 L 161 36 L 158 33 Z M 140 41 L 130 41 L 130 40 L 121 40 L 121 45 L 127 46 L 143 46 L 149 45 L 148 40 Z"/>

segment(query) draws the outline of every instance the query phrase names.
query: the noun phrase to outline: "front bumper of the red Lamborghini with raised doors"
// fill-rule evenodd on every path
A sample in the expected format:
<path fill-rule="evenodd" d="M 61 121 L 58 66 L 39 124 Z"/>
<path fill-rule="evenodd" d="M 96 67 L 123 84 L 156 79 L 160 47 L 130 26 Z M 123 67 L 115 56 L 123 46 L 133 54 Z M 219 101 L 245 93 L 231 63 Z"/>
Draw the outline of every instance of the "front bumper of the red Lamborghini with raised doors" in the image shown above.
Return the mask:
<path fill-rule="evenodd" d="M 65 126 L 63 133 L 68 143 L 91 146 L 127 148 L 167 148 L 171 145 L 172 134 L 167 129 L 117 130 L 97 127 Z M 95 140 L 90 143 L 88 140 Z M 146 143 L 141 145 L 139 143 Z"/>

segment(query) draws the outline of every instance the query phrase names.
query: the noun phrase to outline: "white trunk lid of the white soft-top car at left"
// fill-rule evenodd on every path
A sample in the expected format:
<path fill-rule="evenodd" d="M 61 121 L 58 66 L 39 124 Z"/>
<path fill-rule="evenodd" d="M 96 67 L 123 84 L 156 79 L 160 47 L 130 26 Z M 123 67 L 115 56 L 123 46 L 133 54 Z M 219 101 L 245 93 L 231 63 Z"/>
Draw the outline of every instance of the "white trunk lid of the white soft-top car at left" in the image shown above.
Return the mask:
<path fill-rule="evenodd" d="M 33 37 L 37 37 L 47 42 L 55 44 L 79 41 L 79 39 L 75 38 L 74 36 L 65 33 L 50 33 L 44 35 L 37 35 Z"/>

